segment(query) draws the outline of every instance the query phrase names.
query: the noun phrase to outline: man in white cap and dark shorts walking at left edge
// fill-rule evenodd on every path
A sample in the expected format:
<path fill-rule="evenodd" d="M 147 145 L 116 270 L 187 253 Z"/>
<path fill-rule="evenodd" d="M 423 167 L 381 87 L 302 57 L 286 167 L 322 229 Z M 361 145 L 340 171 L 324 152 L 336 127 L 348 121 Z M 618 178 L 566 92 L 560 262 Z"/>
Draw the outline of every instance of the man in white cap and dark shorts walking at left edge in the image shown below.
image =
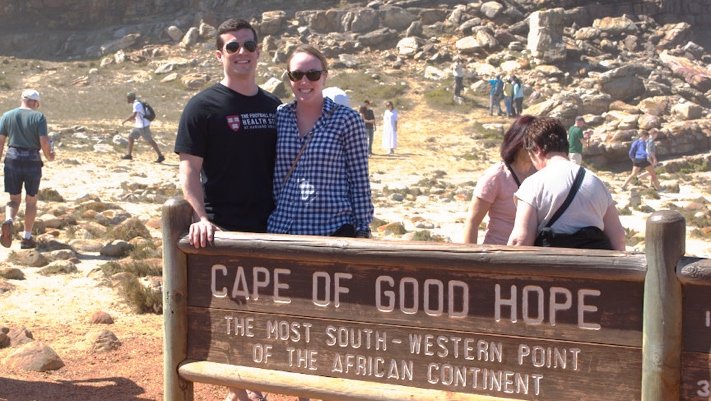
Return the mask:
<path fill-rule="evenodd" d="M 37 193 L 42 178 L 40 149 L 48 161 L 54 160 L 54 149 L 47 137 L 47 119 L 37 111 L 40 94 L 34 89 L 22 91 L 20 107 L 12 109 L 0 118 L 0 158 L 5 142 L 5 192 L 10 202 L 5 206 L 5 221 L 2 223 L 0 244 L 12 245 L 14 220 L 22 201 L 22 186 L 25 186 L 25 225 L 20 248 L 37 246 L 32 237 L 32 227 L 37 217 Z"/>

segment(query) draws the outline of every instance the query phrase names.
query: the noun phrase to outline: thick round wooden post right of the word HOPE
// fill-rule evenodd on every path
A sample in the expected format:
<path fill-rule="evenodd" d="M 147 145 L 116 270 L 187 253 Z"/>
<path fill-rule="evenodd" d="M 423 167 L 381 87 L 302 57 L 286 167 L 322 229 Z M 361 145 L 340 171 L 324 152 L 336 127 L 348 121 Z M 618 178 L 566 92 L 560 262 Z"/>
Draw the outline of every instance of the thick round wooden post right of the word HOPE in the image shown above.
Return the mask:
<path fill-rule="evenodd" d="M 649 217 L 646 230 L 642 401 L 678 400 L 682 294 L 675 270 L 685 252 L 686 223 L 678 212 L 659 211 Z"/>

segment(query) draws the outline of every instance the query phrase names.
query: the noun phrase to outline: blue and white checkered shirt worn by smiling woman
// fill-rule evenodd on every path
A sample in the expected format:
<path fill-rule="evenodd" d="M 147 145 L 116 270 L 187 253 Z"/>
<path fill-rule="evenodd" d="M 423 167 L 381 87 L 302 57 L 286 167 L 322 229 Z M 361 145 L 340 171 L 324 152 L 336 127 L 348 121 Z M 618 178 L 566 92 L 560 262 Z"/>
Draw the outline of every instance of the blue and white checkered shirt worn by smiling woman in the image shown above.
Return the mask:
<path fill-rule="evenodd" d="M 369 231 L 373 203 L 368 177 L 368 138 L 363 119 L 350 107 L 325 98 L 321 117 L 304 137 L 296 123 L 296 102 L 277 109 L 276 208 L 267 231 L 330 235 L 344 224 Z M 286 182 L 291 165 L 309 141 Z"/>

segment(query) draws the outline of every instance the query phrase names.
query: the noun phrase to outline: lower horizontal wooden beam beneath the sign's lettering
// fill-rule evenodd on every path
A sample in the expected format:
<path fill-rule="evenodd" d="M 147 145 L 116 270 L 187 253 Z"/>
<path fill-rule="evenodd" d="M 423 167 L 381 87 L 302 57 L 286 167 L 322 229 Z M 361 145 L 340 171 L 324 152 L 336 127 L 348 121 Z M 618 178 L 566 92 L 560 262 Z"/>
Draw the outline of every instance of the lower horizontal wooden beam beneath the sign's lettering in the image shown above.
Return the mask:
<path fill-rule="evenodd" d="M 394 384 L 363 383 L 358 380 L 311 376 L 301 373 L 187 361 L 180 365 L 181 378 L 191 382 L 258 388 L 262 391 L 338 401 L 516 401 L 449 391 L 428 390 Z"/>

